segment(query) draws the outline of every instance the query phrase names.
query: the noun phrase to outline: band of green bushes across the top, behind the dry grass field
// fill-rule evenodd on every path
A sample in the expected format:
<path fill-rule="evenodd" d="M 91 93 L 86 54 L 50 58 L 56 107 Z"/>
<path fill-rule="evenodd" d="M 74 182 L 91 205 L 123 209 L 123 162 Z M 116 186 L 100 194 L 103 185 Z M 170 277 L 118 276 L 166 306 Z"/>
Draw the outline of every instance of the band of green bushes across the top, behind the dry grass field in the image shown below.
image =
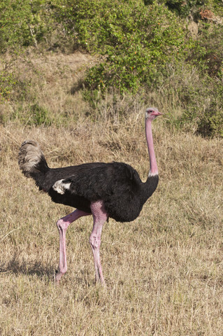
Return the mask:
<path fill-rule="evenodd" d="M 78 86 L 92 109 L 109 92 L 145 102 L 148 92 L 160 92 L 169 102 L 169 123 L 223 137 L 222 36 L 220 0 L 2 0 L 0 103 L 29 97 L 35 116 L 29 122 L 49 125 L 48 111 L 30 97 L 29 81 L 17 77 L 13 64 L 29 48 L 80 50 L 97 59 Z M 173 118 L 174 109 L 180 113 Z M 1 123 L 15 115 L 1 113 Z"/>

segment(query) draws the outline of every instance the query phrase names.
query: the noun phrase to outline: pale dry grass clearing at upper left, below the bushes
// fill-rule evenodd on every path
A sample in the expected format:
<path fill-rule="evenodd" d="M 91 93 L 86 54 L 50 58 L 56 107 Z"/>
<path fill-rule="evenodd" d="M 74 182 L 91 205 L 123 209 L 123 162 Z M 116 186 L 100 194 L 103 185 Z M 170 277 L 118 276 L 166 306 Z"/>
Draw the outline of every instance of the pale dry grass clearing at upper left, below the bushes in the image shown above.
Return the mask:
<path fill-rule="evenodd" d="M 94 62 L 96 57 L 80 52 L 36 55 L 31 51 L 16 59 L 6 55 L 0 70 L 8 66 L 8 72 L 13 73 L 18 83 L 10 94 L 10 104 L 0 104 L 0 117 L 7 119 L 13 115 L 14 119 L 27 120 L 33 104 L 47 110 L 57 124 L 74 115 L 81 116 L 87 104 L 76 89 L 81 85 L 84 71 Z"/>

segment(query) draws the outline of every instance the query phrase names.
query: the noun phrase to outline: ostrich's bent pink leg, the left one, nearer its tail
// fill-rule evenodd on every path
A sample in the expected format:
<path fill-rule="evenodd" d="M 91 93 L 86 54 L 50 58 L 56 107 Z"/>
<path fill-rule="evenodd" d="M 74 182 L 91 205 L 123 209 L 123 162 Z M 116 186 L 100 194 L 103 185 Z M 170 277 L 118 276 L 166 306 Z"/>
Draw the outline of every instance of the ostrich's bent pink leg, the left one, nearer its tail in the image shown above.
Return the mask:
<path fill-rule="evenodd" d="M 76 221 L 78 218 L 82 216 L 88 216 L 87 212 L 80 211 L 76 209 L 71 214 L 59 219 L 57 221 L 57 228 L 59 230 L 59 267 L 56 275 L 56 283 L 59 283 L 62 275 L 66 273 L 67 263 L 66 263 L 66 230 L 71 223 Z"/>

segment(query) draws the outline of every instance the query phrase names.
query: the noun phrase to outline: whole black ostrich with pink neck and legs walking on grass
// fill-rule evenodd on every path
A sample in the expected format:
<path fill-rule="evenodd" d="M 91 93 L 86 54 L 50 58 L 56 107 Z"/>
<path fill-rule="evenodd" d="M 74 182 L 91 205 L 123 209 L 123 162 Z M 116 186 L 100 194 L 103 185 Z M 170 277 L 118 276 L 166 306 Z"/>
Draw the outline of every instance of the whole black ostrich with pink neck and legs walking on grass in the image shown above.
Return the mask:
<path fill-rule="evenodd" d="M 156 190 L 159 177 L 152 140 L 152 120 L 160 115 L 155 108 L 145 111 L 145 135 L 150 157 L 150 171 L 145 183 L 134 168 L 123 162 L 92 162 L 52 169 L 48 167 L 43 152 L 35 141 L 22 143 L 18 163 L 24 176 L 34 179 L 39 190 L 48 193 L 53 202 L 75 208 L 71 214 L 57 221 L 59 267 L 56 283 L 59 283 L 67 270 L 67 228 L 78 218 L 92 215 L 94 224 L 89 244 L 94 256 L 96 282 L 105 285 L 99 253 L 101 230 L 108 218 L 118 222 L 134 221 L 143 204 Z"/>

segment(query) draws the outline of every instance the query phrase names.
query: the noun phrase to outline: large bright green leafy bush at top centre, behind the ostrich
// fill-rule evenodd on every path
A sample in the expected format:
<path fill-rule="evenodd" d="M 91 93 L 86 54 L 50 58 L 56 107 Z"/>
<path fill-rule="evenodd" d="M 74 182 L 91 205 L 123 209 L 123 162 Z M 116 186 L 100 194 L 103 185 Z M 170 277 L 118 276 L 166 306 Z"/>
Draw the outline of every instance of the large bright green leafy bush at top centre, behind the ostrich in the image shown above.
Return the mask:
<path fill-rule="evenodd" d="M 77 45 L 103 55 L 85 87 L 136 92 L 159 81 L 166 64 L 185 59 L 192 41 L 165 6 L 143 1 L 64 0 L 59 19 Z"/>

